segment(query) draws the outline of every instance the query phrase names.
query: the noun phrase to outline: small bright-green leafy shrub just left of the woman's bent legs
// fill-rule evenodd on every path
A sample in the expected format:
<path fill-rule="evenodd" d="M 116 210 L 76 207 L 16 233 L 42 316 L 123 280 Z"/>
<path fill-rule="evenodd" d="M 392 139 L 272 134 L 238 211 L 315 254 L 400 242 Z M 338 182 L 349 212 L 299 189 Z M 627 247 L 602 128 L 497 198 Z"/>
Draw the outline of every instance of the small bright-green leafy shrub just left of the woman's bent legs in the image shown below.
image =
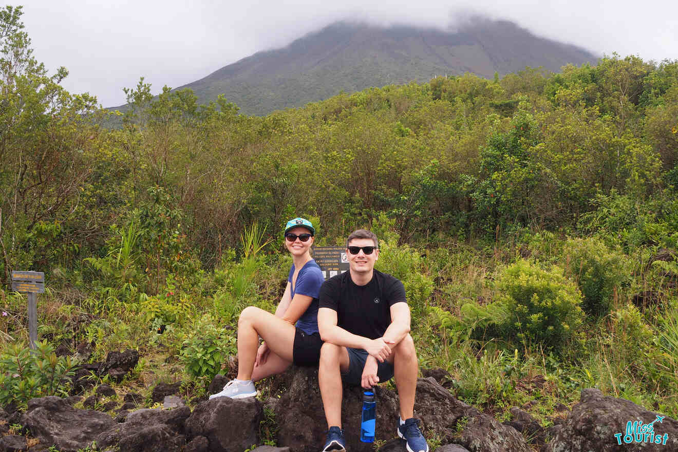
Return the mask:
<path fill-rule="evenodd" d="M 182 344 L 179 358 L 191 377 L 212 379 L 224 358 L 237 352 L 235 337 L 225 328 L 215 327 L 216 323 L 212 316 L 203 316 Z"/>

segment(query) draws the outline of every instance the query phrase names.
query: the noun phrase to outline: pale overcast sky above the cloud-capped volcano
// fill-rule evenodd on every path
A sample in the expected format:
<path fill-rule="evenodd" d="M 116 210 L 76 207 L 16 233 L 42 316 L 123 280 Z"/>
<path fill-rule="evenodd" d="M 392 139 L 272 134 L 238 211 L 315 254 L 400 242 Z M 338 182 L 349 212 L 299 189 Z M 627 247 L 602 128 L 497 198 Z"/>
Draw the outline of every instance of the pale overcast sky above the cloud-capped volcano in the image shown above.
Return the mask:
<path fill-rule="evenodd" d="M 675 0 L 17 1 L 36 58 L 52 73 L 65 66 L 64 87 L 106 107 L 141 76 L 156 94 L 344 18 L 444 28 L 477 13 L 597 54 L 678 59 Z"/>

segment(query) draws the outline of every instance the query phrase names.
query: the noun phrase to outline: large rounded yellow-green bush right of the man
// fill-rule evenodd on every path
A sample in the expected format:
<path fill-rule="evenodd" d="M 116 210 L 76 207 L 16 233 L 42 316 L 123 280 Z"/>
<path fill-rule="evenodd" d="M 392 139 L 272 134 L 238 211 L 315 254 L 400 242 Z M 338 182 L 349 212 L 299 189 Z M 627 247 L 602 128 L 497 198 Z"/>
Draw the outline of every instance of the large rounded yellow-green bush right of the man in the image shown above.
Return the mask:
<path fill-rule="evenodd" d="M 496 289 L 497 302 L 506 308 L 498 327 L 509 340 L 559 351 L 578 336 L 581 295 L 560 268 L 547 271 L 519 260 L 500 274 Z"/>

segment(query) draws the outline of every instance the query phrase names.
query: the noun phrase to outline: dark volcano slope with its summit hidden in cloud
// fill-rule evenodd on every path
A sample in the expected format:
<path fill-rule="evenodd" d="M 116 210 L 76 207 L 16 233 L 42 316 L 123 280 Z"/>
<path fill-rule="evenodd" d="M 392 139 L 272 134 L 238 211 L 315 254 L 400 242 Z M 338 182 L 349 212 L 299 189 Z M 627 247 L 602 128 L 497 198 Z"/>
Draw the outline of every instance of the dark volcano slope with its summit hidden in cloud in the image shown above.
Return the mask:
<path fill-rule="evenodd" d="M 201 102 L 224 94 L 241 111 L 266 115 L 338 94 L 437 75 L 466 72 L 492 78 L 525 66 L 558 71 L 595 63 L 574 45 L 532 35 L 512 22 L 475 18 L 455 32 L 414 26 L 337 22 L 282 49 L 258 52 L 178 89 Z"/>

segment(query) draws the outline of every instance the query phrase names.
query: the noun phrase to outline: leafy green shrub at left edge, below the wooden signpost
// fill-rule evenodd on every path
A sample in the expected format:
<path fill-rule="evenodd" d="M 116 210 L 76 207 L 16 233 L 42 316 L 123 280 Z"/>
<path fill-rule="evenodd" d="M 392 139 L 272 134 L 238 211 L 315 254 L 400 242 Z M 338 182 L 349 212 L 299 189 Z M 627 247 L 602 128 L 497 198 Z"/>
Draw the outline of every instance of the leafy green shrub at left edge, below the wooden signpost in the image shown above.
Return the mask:
<path fill-rule="evenodd" d="M 34 397 L 66 396 L 70 382 L 71 359 L 54 354 L 54 347 L 39 342 L 31 352 L 13 344 L 0 354 L 0 405 L 24 405 Z"/>

